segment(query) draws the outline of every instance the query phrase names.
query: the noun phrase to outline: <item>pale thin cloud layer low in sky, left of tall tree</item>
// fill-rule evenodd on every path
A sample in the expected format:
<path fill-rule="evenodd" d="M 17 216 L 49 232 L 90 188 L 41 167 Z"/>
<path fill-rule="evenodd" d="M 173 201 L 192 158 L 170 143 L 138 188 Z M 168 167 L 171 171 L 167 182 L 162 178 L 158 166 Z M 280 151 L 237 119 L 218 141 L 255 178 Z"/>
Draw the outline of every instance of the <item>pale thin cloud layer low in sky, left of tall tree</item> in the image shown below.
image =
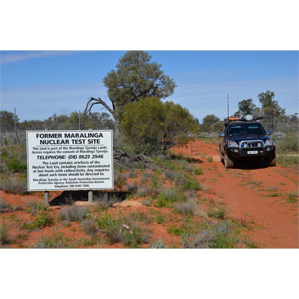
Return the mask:
<path fill-rule="evenodd" d="M 61 110 L 83 111 L 90 97 L 106 100 L 106 89 L 98 81 L 3 88 L 1 110 L 13 112 L 16 108 L 20 121 L 44 120 Z"/>

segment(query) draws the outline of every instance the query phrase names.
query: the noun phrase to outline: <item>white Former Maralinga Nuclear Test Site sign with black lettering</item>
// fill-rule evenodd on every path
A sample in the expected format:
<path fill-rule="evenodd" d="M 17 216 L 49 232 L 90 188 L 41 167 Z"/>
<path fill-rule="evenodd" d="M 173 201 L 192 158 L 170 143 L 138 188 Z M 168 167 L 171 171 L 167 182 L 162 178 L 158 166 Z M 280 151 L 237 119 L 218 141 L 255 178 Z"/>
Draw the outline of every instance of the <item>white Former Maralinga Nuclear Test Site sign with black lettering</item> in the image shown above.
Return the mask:
<path fill-rule="evenodd" d="M 112 130 L 27 131 L 27 169 L 28 191 L 113 189 Z"/>

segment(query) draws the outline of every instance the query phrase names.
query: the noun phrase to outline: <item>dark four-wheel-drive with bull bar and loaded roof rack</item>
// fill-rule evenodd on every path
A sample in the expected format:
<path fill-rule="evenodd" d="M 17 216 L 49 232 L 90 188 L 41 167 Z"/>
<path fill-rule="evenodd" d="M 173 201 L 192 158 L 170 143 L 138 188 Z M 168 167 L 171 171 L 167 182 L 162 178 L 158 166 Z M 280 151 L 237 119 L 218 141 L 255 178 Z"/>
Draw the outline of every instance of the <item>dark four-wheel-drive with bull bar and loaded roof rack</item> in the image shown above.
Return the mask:
<path fill-rule="evenodd" d="M 275 145 L 270 135 L 257 120 L 262 117 L 230 118 L 224 124 L 219 143 L 220 161 L 225 168 L 233 168 L 236 160 L 266 160 L 268 166 L 276 165 Z"/>

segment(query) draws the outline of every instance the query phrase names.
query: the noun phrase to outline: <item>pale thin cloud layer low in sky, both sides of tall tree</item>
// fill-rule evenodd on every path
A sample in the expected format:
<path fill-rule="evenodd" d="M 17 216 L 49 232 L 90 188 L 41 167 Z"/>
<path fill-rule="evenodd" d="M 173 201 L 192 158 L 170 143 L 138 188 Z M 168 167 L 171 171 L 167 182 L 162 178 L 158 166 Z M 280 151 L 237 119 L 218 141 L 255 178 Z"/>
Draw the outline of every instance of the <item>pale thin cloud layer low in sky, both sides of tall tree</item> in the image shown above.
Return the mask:
<path fill-rule="evenodd" d="M 179 84 L 174 94 L 166 100 L 172 100 L 187 108 L 199 121 L 214 114 L 220 119 L 227 116 L 227 94 L 229 94 L 229 112 L 238 110 L 238 102 L 253 99 L 259 107 L 258 94 L 267 90 L 275 93 L 275 100 L 287 114 L 298 112 L 298 80 L 273 79 L 239 82 L 219 82 L 205 84 Z M 90 97 L 100 97 L 109 105 L 106 88 L 98 81 L 81 84 L 51 84 L 1 90 L 1 110 L 10 112 L 16 108 L 20 121 L 44 120 L 61 110 L 83 111 Z M 94 111 L 100 107 L 94 107 Z"/>

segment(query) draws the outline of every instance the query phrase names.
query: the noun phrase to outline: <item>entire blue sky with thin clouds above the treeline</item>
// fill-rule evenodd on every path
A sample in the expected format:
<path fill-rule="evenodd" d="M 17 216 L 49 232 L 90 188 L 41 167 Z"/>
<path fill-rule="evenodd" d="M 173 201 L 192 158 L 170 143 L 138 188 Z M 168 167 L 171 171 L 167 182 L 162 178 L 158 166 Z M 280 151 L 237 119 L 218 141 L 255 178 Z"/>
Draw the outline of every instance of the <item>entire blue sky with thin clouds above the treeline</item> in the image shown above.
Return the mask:
<path fill-rule="evenodd" d="M 172 100 L 201 122 L 221 120 L 238 102 L 267 90 L 298 112 L 298 51 L 148 51 L 177 87 Z M 54 113 L 83 111 L 89 97 L 110 104 L 103 78 L 125 51 L 1 51 L 1 110 L 16 109 L 20 121 L 44 120 Z M 99 107 L 95 107 L 94 111 Z M 103 110 L 101 110 L 103 111 Z"/>

